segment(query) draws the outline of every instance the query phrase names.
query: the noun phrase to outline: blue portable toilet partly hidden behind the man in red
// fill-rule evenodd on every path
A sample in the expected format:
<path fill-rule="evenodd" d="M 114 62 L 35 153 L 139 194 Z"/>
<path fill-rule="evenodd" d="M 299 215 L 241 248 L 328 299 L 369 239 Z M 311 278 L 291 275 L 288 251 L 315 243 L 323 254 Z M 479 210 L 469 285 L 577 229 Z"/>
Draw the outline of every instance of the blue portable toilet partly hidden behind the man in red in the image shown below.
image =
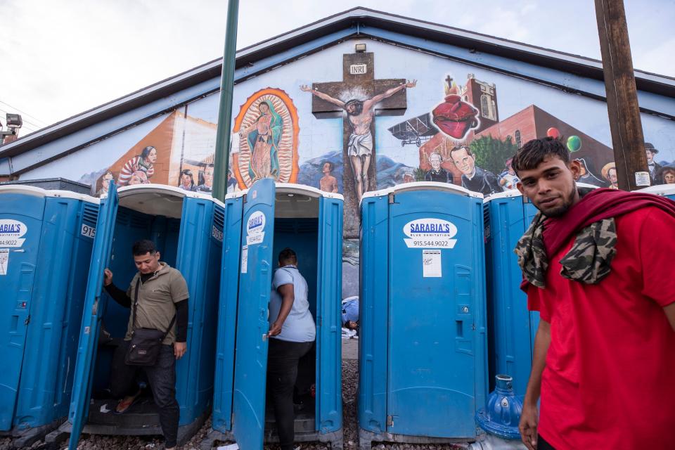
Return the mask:
<path fill-rule="evenodd" d="M 577 187 L 598 186 L 577 183 Z M 522 271 L 513 249 L 537 212 L 515 189 L 484 200 L 490 390 L 495 389 L 496 375 L 508 375 L 518 396 L 525 395 L 532 371 L 539 312 L 527 309 L 527 295 L 520 290 Z"/>

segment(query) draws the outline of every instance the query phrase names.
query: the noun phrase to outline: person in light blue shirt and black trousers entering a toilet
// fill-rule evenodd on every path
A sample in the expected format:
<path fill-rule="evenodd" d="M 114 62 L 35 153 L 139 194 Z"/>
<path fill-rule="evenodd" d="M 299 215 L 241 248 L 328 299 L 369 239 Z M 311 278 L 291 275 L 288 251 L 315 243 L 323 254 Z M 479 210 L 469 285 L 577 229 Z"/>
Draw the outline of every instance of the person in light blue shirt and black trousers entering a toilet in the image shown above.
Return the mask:
<path fill-rule="evenodd" d="M 269 300 L 267 391 L 274 409 L 281 450 L 293 450 L 295 440 L 293 387 L 297 366 L 316 338 L 309 312 L 307 281 L 297 270 L 297 255 L 290 248 L 279 252 L 279 269 L 272 278 Z"/>

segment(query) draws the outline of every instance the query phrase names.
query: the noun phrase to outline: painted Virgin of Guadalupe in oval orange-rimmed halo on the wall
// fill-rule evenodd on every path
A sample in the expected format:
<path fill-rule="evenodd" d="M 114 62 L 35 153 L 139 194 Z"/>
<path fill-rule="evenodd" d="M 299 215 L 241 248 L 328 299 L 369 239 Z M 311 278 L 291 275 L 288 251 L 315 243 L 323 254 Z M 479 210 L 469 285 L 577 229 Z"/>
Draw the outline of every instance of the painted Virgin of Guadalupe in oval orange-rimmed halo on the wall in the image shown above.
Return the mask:
<path fill-rule="evenodd" d="M 232 162 L 239 188 L 264 178 L 297 181 L 297 122 L 297 109 L 281 89 L 262 89 L 248 98 L 233 129 L 238 146 L 233 146 Z"/>

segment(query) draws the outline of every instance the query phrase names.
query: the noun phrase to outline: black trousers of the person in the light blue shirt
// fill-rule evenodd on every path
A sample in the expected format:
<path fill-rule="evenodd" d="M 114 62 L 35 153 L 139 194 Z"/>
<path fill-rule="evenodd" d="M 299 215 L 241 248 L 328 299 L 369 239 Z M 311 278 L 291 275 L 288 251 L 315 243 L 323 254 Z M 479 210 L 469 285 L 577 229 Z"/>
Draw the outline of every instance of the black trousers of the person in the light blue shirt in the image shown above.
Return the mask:
<path fill-rule="evenodd" d="M 295 413 L 293 387 L 300 358 L 311 350 L 314 342 L 287 342 L 270 339 L 267 353 L 267 392 L 274 408 L 274 420 L 281 450 L 293 450 Z"/>

